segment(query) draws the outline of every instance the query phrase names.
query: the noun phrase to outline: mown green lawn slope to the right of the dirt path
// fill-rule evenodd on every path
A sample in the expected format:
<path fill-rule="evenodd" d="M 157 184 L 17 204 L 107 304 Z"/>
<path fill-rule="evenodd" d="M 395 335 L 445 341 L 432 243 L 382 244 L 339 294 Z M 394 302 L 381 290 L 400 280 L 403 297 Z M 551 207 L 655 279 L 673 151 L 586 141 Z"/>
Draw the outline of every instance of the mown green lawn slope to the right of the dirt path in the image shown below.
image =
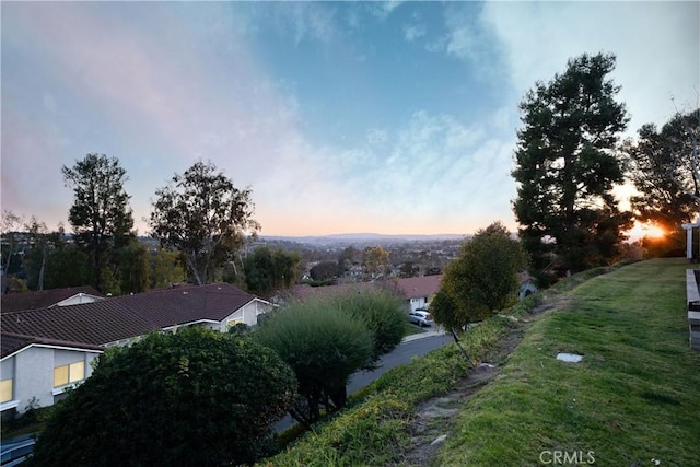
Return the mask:
<path fill-rule="evenodd" d="M 559 452 L 568 464 L 700 465 L 700 352 L 688 346 L 686 268 L 648 260 L 561 292 L 525 325 L 497 380 L 464 405 L 433 464 L 557 464 Z M 584 359 L 565 363 L 558 352 Z"/>

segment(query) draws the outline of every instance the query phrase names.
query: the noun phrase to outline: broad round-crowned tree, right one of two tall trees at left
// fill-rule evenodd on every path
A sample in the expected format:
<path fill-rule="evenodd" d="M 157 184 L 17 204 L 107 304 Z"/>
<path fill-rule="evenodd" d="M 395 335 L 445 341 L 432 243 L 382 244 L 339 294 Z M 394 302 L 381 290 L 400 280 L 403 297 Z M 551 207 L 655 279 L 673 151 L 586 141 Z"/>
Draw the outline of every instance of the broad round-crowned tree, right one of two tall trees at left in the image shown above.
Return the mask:
<path fill-rule="evenodd" d="M 155 191 L 149 219 L 151 235 L 161 245 L 185 255 L 198 284 L 212 269 L 230 260 L 246 235 L 257 235 L 250 189 L 238 189 L 211 162 L 196 162 Z"/>

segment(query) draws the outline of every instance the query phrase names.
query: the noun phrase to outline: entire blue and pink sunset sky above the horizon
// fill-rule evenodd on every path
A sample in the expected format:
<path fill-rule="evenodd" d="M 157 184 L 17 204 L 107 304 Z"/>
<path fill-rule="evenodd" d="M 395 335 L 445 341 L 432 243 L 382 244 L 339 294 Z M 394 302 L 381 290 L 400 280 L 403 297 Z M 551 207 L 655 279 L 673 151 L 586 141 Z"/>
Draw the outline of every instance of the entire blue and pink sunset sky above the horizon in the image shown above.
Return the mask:
<path fill-rule="evenodd" d="M 126 170 L 141 235 L 155 190 L 199 160 L 252 189 L 261 235 L 515 231 L 518 103 L 538 80 L 614 54 L 623 137 L 700 90 L 695 1 L 0 9 L 0 205 L 68 231 L 61 167 L 88 153 Z"/>

